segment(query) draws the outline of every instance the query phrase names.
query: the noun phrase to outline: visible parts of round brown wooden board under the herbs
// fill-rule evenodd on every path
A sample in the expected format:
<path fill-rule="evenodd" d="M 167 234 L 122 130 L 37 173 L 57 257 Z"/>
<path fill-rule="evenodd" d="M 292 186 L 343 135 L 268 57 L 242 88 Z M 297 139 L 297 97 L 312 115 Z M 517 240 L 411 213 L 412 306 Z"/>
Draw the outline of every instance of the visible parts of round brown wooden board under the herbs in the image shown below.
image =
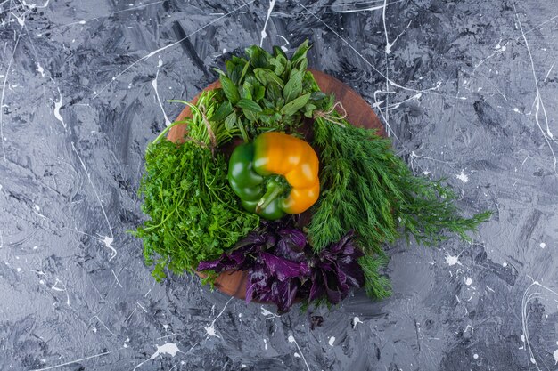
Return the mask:
<path fill-rule="evenodd" d="M 315 69 L 309 69 L 310 72 L 316 78 L 317 85 L 324 93 L 334 93 L 336 101 L 341 101 L 343 107 L 347 111 L 347 120 L 352 125 L 362 126 L 369 129 L 376 129 L 377 133 L 385 136 L 385 131 L 380 119 L 376 116 L 370 105 L 353 89 L 348 85 L 341 83 L 337 78 L 329 76 L 324 72 L 316 71 Z M 204 89 L 211 90 L 221 87 L 219 81 L 209 85 Z M 198 96 L 196 95 L 192 103 L 198 101 Z M 184 120 L 187 117 L 191 117 L 192 113 L 188 106 L 180 112 L 180 115 L 176 117 L 176 121 Z M 180 143 L 183 141 L 187 131 L 186 125 L 176 125 L 173 126 L 168 132 L 168 140 Z M 197 273 L 201 278 L 204 277 L 203 273 Z M 247 272 L 245 271 L 226 271 L 219 275 L 215 281 L 215 286 L 223 294 L 234 296 L 238 299 L 244 299 L 246 295 L 246 282 L 247 282 Z"/>

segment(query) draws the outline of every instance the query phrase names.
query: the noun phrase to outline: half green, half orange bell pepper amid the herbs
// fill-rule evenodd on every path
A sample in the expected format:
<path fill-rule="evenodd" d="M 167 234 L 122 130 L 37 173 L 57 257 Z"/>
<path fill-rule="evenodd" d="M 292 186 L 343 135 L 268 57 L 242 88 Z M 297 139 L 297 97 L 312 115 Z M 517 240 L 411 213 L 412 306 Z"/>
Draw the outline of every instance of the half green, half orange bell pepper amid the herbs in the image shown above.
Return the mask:
<path fill-rule="evenodd" d="M 228 181 L 246 210 L 275 220 L 316 203 L 318 167 L 316 151 L 306 141 L 268 132 L 234 149 Z"/>

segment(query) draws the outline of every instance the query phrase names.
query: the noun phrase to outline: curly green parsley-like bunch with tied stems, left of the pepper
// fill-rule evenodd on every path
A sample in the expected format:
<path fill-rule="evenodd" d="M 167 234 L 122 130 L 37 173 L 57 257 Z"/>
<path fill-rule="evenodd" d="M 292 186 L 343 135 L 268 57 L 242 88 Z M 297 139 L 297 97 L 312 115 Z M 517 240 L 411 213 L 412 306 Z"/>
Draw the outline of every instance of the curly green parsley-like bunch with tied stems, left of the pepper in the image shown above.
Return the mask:
<path fill-rule="evenodd" d="M 190 105 L 193 117 L 186 121 L 185 143 L 162 139 L 167 129 L 145 153 L 139 193 L 150 219 L 135 236 L 143 238 L 145 262 L 155 264 L 152 275 L 158 280 L 165 277 L 165 268 L 192 272 L 258 226 L 258 216 L 242 210 L 228 184 L 226 158 L 214 151 L 238 133 L 227 130 L 223 121 L 210 121 L 220 110 L 217 94 L 203 93 Z"/>

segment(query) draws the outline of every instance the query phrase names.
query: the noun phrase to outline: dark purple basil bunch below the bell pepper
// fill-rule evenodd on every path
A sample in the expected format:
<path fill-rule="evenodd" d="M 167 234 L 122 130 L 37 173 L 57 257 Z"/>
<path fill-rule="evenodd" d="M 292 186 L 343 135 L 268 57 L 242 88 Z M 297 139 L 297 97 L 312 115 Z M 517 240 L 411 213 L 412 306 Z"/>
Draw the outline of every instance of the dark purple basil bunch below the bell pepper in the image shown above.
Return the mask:
<path fill-rule="evenodd" d="M 352 287 L 364 286 L 365 272 L 358 263 L 362 256 L 352 230 L 314 254 L 306 234 L 287 219 L 263 222 L 234 251 L 201 262 L 198 270 L 246 270 L 246 302 L 273 302 L 285 312 L 295 301 L 338 304 Z"/>

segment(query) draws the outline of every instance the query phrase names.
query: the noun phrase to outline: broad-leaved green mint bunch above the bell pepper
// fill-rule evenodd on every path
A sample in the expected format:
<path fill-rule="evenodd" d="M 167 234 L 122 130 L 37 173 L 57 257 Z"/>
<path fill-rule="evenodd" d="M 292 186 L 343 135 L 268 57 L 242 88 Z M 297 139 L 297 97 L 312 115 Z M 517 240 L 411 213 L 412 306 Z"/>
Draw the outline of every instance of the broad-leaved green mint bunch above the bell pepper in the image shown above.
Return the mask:
<path fill-rule="evenodd" d="M 311 94 L 308 49 L 307 40 L 289 60 L 279 47 L 272 54 L 252 45 L 246 58 L 233 57 L 226 61 L 226 71 L 216 69 L 222 86 L 217 91 L 224 92 L 233 110 L 219 116 L 226 119 L 226 127 L 235 127 L 250 141 L 270 130 L 295 131 L 303 116 L 311 117 L 316 109 L 312 103 L 321 97 Z"/>

